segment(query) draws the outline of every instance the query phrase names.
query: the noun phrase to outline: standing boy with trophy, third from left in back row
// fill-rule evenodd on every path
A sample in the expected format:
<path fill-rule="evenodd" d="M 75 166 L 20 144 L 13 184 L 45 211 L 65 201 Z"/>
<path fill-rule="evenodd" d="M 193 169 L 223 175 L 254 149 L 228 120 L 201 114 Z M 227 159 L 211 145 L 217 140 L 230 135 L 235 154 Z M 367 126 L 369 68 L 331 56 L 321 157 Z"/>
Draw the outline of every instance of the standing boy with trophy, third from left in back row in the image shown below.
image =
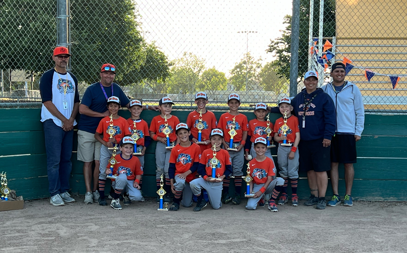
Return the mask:
<path fill-rule="evenodd" d="M 155 149 L 155 159 L 156 159 L 156 182 L 157 182 L 157 190 L 160 189 L 160 176 L 165 174 L 165 186 L 164 190 L 167 192 L 164 196 L 164 203 L 169 203 L 171 201 L 169 197 L 169 192 L 171 191 L 171 182 L 169 180 L 168 175 L 168 166 L 169 166 L 169 157 L 171 154 L 171 149 L 165 148 L 167 147 L 167 138 L 163 133 L 165 128 L 165 118 L 167 118 L 168 128 L 170 130 L 169 134 L 169 141 L 170 146 L 175 146 L 178 142 L 177 137 L 175 135 L 175 126 L 179 124 L 179 119 L 171 115 L 172 105 L 174 103 L 169 97 L 163 97 L 160 99 L 158 103 L 161 114 L 157 115 L 153 118 L 150 124 L 150 137 L 154 141 L 157 141 L 157 147 Z M 157 196 L 157 201 L 160 201 L 160 197 Z"/>

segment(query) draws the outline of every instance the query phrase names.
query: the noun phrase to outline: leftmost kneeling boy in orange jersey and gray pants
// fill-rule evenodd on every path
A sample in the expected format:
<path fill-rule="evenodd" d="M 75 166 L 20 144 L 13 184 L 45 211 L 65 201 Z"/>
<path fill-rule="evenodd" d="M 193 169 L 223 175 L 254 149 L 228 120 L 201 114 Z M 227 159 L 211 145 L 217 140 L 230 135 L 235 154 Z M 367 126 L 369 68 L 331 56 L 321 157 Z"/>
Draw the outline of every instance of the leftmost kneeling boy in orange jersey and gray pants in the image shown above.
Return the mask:
<path fill-rule="evenodd" d="M 133 156 L 134 141 L 131 137 L 125 136 L 120 142 L 120 155 L 116 156 L 117 161 L 113 166 L 113 171 L 110 170 L 110 164 L 107 165 L 106 175 L 118 175 L 116 179 L 112 179 L 112 187 L 114 188 L 113 200 L 110 206 L 116 210 L 121 210 L 120 193 L 124 190 L 130 200 L 140 201 L 142 194 L 140 191 L 140 179 L 143 175 L 143 166 L 139 158 Z"/>

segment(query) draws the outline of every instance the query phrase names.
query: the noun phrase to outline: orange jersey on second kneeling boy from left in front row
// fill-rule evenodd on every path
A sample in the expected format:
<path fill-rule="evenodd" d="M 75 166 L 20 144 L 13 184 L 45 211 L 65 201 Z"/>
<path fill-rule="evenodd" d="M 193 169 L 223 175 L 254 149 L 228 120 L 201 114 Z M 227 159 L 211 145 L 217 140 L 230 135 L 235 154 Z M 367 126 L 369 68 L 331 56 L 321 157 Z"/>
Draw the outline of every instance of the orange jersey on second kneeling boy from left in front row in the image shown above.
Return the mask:
<path fill-rule="evenodd" d="M 175 163 L 175 176 L 187 172 L 194 162 L 199 162 L 201 158 L 201 148 L 199 145 L 192 143 L 189 147 L 183 147 L 177 144 L 171 150 L 169 163 Z M 187 176 L 186 181 L 189 183 L 195 179 L 195 173 Z"/>

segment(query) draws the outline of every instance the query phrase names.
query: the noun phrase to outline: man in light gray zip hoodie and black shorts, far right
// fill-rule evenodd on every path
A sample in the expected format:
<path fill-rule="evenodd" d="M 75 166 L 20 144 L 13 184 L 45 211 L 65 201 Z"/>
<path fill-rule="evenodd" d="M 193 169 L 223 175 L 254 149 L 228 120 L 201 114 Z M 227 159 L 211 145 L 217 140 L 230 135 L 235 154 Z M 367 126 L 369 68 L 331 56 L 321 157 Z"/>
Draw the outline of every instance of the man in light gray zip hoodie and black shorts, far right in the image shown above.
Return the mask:
<path fill-rule="evenodd" d="M 356 85 L 345 81 L 345 75 L 343 63 L 333 64 L 333 81 L 322 87 L 334 101 L 336 111 L 336 131 L 331 143 L 331 184 L 334 195 L 328 206 L 341 203 L 338 194 L 339 163 L 344 163 L 345 166 L 346 195 L 343 205 L 353 205 L 351 190 L 354 178 L 353 163 L 356 163 L 356 142 L 360 140 L 365 124 L 365 109 L 360 91 Z"/>

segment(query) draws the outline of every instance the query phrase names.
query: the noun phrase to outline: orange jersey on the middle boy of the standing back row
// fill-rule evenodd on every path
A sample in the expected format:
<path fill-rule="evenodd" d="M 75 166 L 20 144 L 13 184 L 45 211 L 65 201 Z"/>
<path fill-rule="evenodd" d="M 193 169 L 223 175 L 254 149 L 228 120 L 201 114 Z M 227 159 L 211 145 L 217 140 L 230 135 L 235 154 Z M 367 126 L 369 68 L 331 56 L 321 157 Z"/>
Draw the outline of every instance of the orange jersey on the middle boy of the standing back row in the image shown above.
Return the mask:
<path fill-rule="evenodd" d="M 198 140 L 198 129 L 196 128 L 196 124 L 198 123 L 199 119 L 199 112 L 196 110 L 190 112 L 187 117 L 187 125 L 191 130 L 192 136 Z M 206 113 L 202 114 L 202 123 L 204 124 L 205 128 L 201 131 L 201 140 L 206 141 L 209 140 L 209 135 L 212 129 L 216 128 L 216 117 L 215 114 L 211 111 L 206 111 Z M 208 149 L 211 147 L 210 144 L 208 145 L 199 145 L 201 147 L 201 152 L 203 152 L 205 149 Z"/>

